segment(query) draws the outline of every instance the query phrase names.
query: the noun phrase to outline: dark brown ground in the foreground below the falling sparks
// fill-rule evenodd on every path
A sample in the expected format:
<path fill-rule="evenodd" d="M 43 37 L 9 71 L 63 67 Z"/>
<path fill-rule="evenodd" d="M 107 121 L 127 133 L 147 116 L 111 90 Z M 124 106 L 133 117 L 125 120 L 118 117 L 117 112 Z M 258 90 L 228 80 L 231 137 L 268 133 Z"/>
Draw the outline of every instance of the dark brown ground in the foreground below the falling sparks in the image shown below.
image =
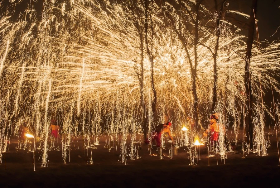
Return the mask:
<path fill-rule="evenodd" d="M 200 159 L 195 158 L 195 166 L 189 165 L 189 154 L 184 148 L 179 149 L 172 159 L 164 156 L 164 159 L 160 160 L 159 156 L 149 155 L 147 145 L 143 145 L 139 150 L 140 159 L 128 160 L 128 165 L 124 165 L 118 161 L 119 148 L 118 151 L 112 149 L 108 152 L 102 140 L 97 149 L 92 150 L 94 164 L 89 165 L 86 163 L 91 149 L 84 150 L 83 153 L 79 141 L 80 149 L 71 146 L 73 148 L 70 150 L 70 162 L 68 158 L 66 164 L 62 161 L 61 150 L 49 151 L 48 166 L 41 167 L 41 161 L 37 160 L 40 153 L 36 151 L 36 171 L 32 165 L 33 152 L 16 151 L 14 148 L 18 145 L 17 142 L 11 142 L 10 151 L 5 153 L 0 165 L 0 188 L 280 187 L 276 138 L 274 140 L 268 148 L 268 156 L 264 157 L 247 153 L 245 158 L 242 158 L 243 152 L 239 150 L 228 153 L 225 160 L 219 155 L 210 157 L 209 160 L 206 157 L 208 152 L 201 148 Z M 168 155 L 168 150 L 165 154 Z"/>

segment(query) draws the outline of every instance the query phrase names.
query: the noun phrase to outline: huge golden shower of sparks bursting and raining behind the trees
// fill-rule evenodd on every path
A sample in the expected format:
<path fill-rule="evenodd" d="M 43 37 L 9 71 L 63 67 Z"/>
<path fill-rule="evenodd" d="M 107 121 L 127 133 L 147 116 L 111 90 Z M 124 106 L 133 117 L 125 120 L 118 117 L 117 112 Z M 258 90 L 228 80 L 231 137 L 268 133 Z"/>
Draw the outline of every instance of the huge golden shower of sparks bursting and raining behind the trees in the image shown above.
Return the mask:
<path fill-rule="evenodd" d="M 233 130 L 232 141 L 246 142 L 240 130 L 248 113 L 244 83 L 247 36 L 226 20 L 225 13 L 243 16 L 244 22 L 249 15 L 227 9 L 227 2 L 218 28 L 219 12 L 211 13 L 200 4 L 197 13 L 196 1 L 185 2 L 186 10 L 176 14 L 176 4 L 167 2 L 52 0 L 43 1 L 42 12 L 30 4 L 16 18 L 15 8 L 23 2 L 9 3 L 0 20 L 1 162 L 8 140 L 18 138 L 18 149 L 29 149 L 34 156 L 40 151 L 42 166 L 47 166 L 48 151 L 55 142 L 49 129 L 51 119 L 60 125 L 64 162 L 74 137 L 82 139 L 91 155 L 98 151 L 93 149 L 100 138 L 106 137 L 108 151 L 119 148 L 120 161 L 126 164 L 139 157 L 138 144 L 144 134 L 149 137 L 157 124 L 171 121 L 174 147 L 186 145 L 186 157 L 194 165 L 197 151 L 193 143 L 202 138 L 213 111 L 220 114 L 219 121 L 225 126 L 218 142 L 222 158 L 230 152 L 228 129 Z M 196 16 L 198 22 L 193 22 L 191 18 Z M 197 36 L 192 30 L 195 26 Z M 213 52 L 218 30 L 213 109 Z M 187 36 L 187 43 L 182 43 L 179 31 Z M 275 41 L 262 48 L 258 40 L 253 42 L 253 148 L 245 143 L 243 149 L 260 156 L 267 155 L 269 147 L 264 114 L 273 119 L 276 130 L 279 125 L 278 103 L 265 100 L 280 92 L 279 45 Z M 22 142 L 23 123 L 34 138 Z M 183 126 L 188 132 L 182 131 Z M 92 157 L 88 162 L 93 163 Z"/>

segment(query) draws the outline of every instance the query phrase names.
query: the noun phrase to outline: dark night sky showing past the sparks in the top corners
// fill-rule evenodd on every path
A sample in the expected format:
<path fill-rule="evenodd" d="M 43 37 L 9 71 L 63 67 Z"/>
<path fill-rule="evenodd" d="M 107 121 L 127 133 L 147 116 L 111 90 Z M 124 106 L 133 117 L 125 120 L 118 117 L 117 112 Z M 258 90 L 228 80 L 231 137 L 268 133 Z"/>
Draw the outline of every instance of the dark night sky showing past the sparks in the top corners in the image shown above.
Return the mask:
<path fill-rule="evenodd" d="M 16 11 L 14 11 L 14 19 L 17 19 L 17 15 L 19 12 L 22 12 L 26 8 L 30 7 L 28 4 L 34 4 L 37 12 L 41 12 L 42 10 L 41 0 L 15 0 L 13 4 L 15 4 L 16 2 L 20 2 L 20 4 L 15 5 Z M 213 2 L 207 0 L 206 3 L 211 4 Z M 229 0 L 228 9 L 238 10 L 239 12 L 250 14 L 251 2 L 251 0 Z M 14 10 L 14 5 L 8 6 L 9 4 L 10 0 L 0 0 L 1 15 L 5 14 L 5 12 L 7 11 L 7 7 L 9 7 L 9 12 Z M 40 13 L 38 13 L 38 15 L 40 15 Z M 272 42 L 273 40 L 280 39 L 280 28 L 278 29 L 278 27 L 280 27 L 280 0 L 258 0 L 256 17 L 259 20 L 258 30 L 260 41 L 268 40 L 268 42 Z M 236 18 L 241 22 L 248 22 L 248 20 L 244 19 L 244 17 L 236 16 Z M 243 25 L 243 27 L 246 26 Z M 243 31 L 241 31 L 240 34 L 244 34 L 245 36 L 247 36 L 246 28 L 243 28 Z"/>

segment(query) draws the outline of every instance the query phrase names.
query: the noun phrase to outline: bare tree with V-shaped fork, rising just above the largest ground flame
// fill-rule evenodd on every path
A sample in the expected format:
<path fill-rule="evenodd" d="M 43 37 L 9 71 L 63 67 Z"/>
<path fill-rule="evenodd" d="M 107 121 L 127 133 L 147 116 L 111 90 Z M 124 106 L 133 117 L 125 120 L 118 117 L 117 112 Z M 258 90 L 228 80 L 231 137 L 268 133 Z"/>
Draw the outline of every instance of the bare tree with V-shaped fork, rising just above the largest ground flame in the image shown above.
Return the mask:
<path fill-rule="evenodd" d="M 163 11 L 169 18 L 174 30 L 178 36 L 178 39 L 182 42 L 182 45 L 186 51 L 186 55 L 189 61 L 191 69 L 191 81 L 192 81 L 192 94 L 193 94 L 193 106 L 192 115 L 196 123 L 196 127 L 199 127 L 198 122 L 198 97 L 196 92 L 196 75 L 197 75 L 197 46 L 199 44 L 199 20 L 201 17 L 200 7 L 203 0 L 197 0 L 193 2 L 178 1 L 164 1 L 166 6 Z M 158 4 L 160 6 L 160 4 Z M 180 8 L 178 8 L 180 7 Z M 188 17 L 188 19 L 186 19 Z M 192 37 L 192 41 L 191 40 Z M 189 45 L 194 48 L 194 60 L 191 59 L 189 52 Z"/>

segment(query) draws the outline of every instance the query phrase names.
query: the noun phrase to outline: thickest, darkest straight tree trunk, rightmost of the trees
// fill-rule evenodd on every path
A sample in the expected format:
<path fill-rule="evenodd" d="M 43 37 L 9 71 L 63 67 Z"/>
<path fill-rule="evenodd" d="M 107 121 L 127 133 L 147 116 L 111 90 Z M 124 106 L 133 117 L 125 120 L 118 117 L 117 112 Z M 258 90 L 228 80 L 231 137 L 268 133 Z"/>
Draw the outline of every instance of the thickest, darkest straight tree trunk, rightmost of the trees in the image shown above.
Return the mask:
<path fill-rule="evenodd" d="M 249 148 L 253 148 L 253 123 L 252 123 L 252 85 L 250 72 L 250 59 L 252 55 L 253 36 L 255 29 L 255 14 L 257 8 L 257 0 L 252 0 L 252 9 L 249 18 L 249 31 L 247 38 L 246 61 L 245 61 L 245 91 L 246 91 L 246 109 L 245 109 L 245 134 L 246 142 Z"/>

